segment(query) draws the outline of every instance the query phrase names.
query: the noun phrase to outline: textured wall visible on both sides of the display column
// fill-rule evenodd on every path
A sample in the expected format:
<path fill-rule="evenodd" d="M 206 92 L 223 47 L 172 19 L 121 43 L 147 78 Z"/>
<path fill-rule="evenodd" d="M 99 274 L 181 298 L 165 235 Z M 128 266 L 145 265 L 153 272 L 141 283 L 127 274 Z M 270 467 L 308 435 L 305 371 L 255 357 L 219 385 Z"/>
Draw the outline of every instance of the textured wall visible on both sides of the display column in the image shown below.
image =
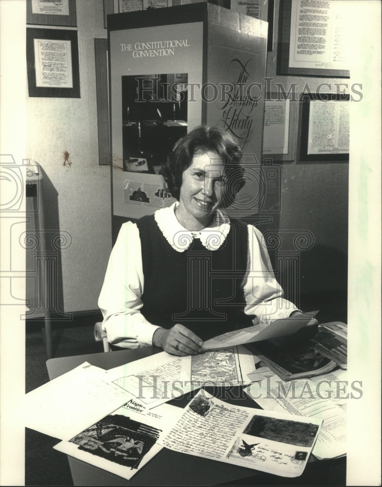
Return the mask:
<path fill-rule="evenodd" d="M 273 52 L 268 53 L 267 77 L 296 92 L 309 84 L 311 92 L 330 79 L 276 74 L 280 0 L 275 1 Z M 97 297 L 111 249 L 109 167 L 98 165 L 95 102 L 94 37 L 107 37 L 103 1 L 77 2 L 81 98 L 27 97 L 27 154 L 44 173 L 46 226 L 72 235 L 61 252 L 59 281 L 63 310 L 97 308 Z M 281 163 L 280 230 L 309 230 L 314 246 L 301 253 L 301 289 L 305 292 L 346 291 L 348 164 L 299 161 L 300 127 L 293 162 Z M 71 167 L 63 166 L 63 152 Z"/>

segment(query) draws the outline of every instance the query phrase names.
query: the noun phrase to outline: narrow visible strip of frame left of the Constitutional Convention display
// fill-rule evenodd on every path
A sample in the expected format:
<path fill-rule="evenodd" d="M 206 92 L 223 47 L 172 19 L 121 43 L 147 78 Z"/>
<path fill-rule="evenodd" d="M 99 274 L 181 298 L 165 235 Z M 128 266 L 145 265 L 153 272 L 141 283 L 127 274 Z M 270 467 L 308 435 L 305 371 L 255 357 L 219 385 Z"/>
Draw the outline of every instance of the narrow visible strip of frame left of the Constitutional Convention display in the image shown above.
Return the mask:
<path fill-rule="evenodd" d="M 94 39 L 99 165 L 110 165 L 108 39 Z"/>

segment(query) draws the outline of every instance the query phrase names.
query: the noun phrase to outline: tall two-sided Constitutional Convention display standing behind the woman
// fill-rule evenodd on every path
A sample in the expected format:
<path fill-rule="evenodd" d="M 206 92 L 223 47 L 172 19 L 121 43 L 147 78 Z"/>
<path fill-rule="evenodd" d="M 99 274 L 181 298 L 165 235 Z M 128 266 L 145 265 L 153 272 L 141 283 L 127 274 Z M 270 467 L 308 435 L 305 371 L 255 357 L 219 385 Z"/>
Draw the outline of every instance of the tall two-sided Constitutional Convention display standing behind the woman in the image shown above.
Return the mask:
<path fill-rule="evenodd" d="M 251 166 L 261 160 L 255 127 L 264 116 L 266 22 L 199 3 L 157 9 L 155 17 L 111 15 L 108 29 L 113 217 L 172 205 L 161 165 L 201 123 L 235 135 Z M 244 213 L 235 216 L 254 211 L 258 182 L 249 174 L 237 206 Z"/>

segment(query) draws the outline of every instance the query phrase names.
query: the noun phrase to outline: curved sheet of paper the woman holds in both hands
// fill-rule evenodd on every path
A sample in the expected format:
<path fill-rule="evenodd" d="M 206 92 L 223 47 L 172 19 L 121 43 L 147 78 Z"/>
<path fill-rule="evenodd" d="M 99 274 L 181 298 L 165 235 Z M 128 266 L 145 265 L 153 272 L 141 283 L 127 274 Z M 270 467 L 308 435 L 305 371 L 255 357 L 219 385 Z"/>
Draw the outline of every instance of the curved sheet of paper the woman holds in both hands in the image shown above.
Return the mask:
<path fill-rule="evenodd" d="M 270 324 L 259 323 L 255 326 L 224 333 L 218 337 L 206 340 L 202 348 L 203 350 L 216 350 L 271 338 L 288 337 L 304 328 L 317 313 L 318 311 L 312 311 L 303 315 L 292 316 L 291 318 L 275 319 Z"/>

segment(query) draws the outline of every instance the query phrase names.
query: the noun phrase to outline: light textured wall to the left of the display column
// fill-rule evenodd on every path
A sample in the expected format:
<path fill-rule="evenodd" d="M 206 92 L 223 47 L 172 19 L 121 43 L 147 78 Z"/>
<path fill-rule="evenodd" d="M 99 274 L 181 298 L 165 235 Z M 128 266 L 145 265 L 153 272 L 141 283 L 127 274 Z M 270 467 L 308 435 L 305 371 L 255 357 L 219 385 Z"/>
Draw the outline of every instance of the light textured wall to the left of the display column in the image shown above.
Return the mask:
<path fill-rule="evenodd" d="M 110 168 L 98 162 L 94 66 L 94 38 L 107 37 L 103 1 L 76 7 L 81 97 L 27 94 L 27 157 L 42 168 L 45 225 L 73 239 L 61 251 L 58 276 L 60 311 L 67 313 L 98 308 L 111 250 Z M 63 165 L 64 151 L 71 167 Z"/>

